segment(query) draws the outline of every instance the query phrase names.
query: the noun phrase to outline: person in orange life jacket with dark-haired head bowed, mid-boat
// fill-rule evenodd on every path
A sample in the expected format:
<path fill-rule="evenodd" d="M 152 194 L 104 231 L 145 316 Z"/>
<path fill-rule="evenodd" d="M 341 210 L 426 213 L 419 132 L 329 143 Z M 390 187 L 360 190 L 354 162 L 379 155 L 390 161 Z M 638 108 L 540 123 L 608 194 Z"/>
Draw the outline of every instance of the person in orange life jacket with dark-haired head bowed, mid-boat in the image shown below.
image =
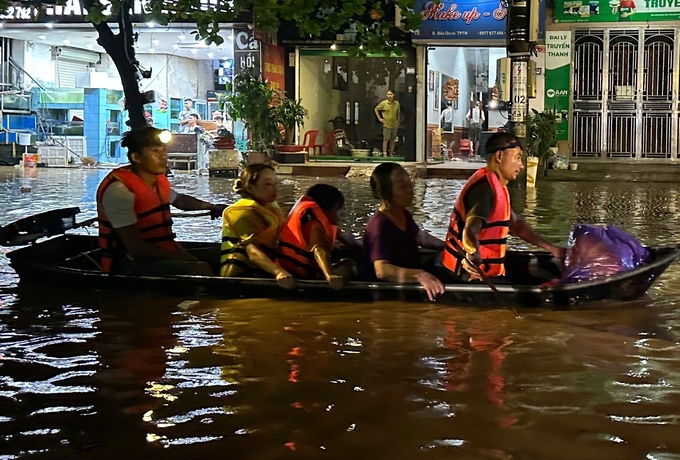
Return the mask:
<path fill-rule="evenodd" d="M 331 264 L 336 242 L 359 247 L 351 236 L 338 231 L 345 206 L 342 192 L 332 185 L 311 186 L 288 214 L 279 240 L 277 262 L 300 279 L 325 279 L 331 288 L 342 289 L 356 275 L 356 264 L 343 259 Z"/>

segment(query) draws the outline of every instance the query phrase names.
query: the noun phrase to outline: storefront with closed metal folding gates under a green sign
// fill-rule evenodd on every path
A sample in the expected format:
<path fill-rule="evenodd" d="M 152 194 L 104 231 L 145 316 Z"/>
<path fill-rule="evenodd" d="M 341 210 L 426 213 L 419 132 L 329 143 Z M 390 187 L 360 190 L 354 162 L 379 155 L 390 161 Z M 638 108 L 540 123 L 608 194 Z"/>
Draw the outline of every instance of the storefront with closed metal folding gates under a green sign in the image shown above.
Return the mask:
<path fill-rule="evenodd" d="M 568 113 L 578 158 L 676 160 L 680 8 L 664 2 L 555 1 L 546 103 Z"/>

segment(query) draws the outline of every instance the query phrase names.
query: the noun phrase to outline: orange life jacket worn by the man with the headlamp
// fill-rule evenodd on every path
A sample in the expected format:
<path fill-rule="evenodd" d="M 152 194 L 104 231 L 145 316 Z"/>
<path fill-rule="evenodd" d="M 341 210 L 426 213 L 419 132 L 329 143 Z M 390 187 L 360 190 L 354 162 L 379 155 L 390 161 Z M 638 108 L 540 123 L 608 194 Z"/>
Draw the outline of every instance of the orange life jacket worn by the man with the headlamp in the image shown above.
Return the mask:
<path fill-rule="evenodd" d="M 114 261 L 120 261 L 127 255 L 120 237 L 104 214 L 102 206 L 104 191 L 115 181 L 123 183 L 135 195 L 134 210 L 142 238 L 168 251 L 179 251 L 179 244 L 175 242 L 175 234 L 172 233 L 171 191 L 168 178 L 163 174 L 158 176 L 156 180 L 158 193 L 156 193 L 137 174 L 133 173 L 129 166 L 125 166 L 111 171 L 97 189 L 98 241 L 101 248 L 102 270 L 110 272 Z"/>

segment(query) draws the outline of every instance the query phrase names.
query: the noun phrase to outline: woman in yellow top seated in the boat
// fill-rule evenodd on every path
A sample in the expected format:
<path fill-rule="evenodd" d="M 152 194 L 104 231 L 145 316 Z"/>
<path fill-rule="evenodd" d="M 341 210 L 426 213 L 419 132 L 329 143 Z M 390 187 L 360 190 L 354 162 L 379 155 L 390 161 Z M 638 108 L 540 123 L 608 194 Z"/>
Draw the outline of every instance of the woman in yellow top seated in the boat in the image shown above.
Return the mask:
<path fill-rule="evenodd" d="M 276 203 L 278 180 L 274 168 L 250 164 L 234 182 L 243 198 L 222 214 L 222 276 L 259 277 L 268 273 L 279 286 L 292 289 L 295 278 L 276 262 L 276 245 L 284 216 Z"/>

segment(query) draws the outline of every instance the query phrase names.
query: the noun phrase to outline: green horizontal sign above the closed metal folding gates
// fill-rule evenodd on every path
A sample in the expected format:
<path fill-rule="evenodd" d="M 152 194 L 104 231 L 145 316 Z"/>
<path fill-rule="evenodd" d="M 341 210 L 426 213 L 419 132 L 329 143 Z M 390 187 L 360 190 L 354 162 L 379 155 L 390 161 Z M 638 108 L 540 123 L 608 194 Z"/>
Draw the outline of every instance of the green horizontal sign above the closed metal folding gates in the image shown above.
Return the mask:
<path fill-rule="evenodd" d="M 680 20 L 680 0 L 555 0 L 555 22 Z"/>

